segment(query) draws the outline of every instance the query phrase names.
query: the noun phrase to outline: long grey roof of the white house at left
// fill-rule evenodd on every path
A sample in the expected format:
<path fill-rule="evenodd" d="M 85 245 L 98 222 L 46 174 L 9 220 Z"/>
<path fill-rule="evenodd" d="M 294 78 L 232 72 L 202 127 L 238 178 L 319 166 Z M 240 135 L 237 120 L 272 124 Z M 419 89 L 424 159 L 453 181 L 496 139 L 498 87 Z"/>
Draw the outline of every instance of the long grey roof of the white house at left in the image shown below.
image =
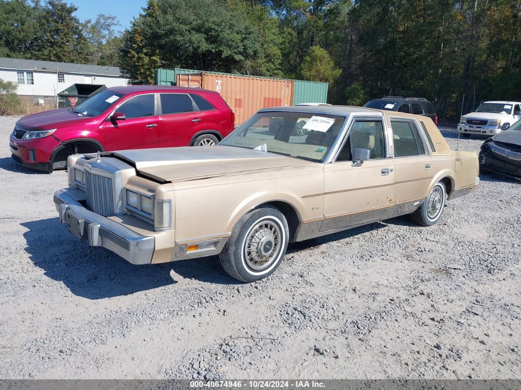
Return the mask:
<path fill-rule="evenodd" d="M 0 57 L 0 68 L 122 76 L 121 70 L 115 66 L 71 64 L 70 62 L 40 61 L 34 59 L 6 57 Z"/>

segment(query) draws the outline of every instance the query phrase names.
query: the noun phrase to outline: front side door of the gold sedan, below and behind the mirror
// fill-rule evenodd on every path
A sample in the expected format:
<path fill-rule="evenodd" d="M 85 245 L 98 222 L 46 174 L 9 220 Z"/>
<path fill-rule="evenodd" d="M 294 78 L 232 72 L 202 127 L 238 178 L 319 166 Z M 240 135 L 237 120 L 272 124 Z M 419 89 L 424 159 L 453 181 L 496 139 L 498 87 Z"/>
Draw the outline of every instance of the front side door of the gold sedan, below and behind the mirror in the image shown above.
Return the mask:
<path fill-rule="evenodd" d="M 370 158 L 353 166 L 356 148 Z M 393 161 L 388 157 L 382 118 L 355 118 L 336 159 L 324 167 L 324 217 L 321 231 L 378 220 L 393 199 Z"/>

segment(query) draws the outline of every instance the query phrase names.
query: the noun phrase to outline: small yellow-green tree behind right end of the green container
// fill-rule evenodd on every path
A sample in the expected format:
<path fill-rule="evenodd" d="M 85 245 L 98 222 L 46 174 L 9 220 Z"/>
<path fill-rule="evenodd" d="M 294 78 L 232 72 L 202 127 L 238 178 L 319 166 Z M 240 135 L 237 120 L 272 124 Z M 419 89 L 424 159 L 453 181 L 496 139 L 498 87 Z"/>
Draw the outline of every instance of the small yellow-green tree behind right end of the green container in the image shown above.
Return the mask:
<path fill-rule="evenodd" d="M 312 46 L 302 61 L 300 76 L 303 80 L 333 84 L 342 70 L 334 65 L 329 54 L 320 46 Z"/>

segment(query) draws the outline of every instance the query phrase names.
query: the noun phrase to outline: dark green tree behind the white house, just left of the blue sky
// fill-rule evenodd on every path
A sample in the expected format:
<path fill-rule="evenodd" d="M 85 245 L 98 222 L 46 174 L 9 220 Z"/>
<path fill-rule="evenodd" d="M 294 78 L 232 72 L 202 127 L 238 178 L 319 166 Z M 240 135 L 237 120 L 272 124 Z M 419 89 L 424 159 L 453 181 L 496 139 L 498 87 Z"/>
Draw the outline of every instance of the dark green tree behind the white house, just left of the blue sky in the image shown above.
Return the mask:
<path fill-rule="evenodd" d="M 61 0 L 47 1 L 38 16 L 41 30 L 35 56 L 50 61 L 88 61 L 88 42 L 80 20 L 72 15 L 77 9 Z"/>

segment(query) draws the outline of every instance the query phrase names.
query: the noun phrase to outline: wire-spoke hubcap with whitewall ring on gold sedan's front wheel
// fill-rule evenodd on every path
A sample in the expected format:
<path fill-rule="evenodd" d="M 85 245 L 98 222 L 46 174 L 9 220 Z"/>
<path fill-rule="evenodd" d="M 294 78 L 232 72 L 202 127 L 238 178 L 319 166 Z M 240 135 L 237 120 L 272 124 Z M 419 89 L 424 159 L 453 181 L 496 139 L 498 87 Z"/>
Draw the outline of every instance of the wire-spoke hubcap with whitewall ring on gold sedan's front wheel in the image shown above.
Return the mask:
<path fill-rule="evenodd" d="M 253 272 L 266 271 L 281 254 L 283 233 L 275 219 L 264 218 L 253 224 L 243 243 L 243 258 Z"/>

